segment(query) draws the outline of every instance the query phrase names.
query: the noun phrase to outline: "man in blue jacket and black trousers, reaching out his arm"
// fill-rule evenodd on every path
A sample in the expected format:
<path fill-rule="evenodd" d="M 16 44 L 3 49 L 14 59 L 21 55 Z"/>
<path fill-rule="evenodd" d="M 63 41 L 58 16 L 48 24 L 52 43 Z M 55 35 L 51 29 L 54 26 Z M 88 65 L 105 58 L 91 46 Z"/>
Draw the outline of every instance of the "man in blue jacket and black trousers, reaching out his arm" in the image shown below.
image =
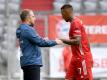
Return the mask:
<path fill-rule="evenodd" d="M 20 63 L 24 80 L 40 80 L 40 67 L 42 66 L 41 50 L 39 47 L 51 47 L 61 44 L 60 40 L 45 40 L 33 28 L 35 16 L 32 10 L 23 10 L 20 14 L 22 23 L 16 30 L 19 39 L 21 57 Z"/>

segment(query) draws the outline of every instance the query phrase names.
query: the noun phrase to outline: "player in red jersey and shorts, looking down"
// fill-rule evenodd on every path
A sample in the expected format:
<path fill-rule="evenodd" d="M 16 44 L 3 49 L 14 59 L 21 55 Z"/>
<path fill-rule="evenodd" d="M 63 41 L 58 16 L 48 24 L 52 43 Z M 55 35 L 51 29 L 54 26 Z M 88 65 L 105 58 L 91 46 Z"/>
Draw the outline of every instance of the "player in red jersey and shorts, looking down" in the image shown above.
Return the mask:
<path fill-rule="evenodd" d="M 81 20 L 73 16 L 73 7 L 65 4 L 61 7 L 61 14 L 66 22 L 70 22 L 69 40 L 61 39 L 71 45 L 72 59 L 67 69 L 66 80 L 93 80 L 93 58 L 84 25 Z"/>

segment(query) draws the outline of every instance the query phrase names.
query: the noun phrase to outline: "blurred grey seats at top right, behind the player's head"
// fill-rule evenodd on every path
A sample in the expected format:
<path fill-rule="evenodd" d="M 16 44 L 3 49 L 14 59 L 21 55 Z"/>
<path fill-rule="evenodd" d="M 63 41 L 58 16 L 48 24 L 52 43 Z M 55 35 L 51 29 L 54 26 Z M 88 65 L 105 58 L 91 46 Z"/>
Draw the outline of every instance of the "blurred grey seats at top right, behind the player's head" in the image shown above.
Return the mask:
<path fill-rule="evenodd" d="M 54 10 L 60 11 L 60 7 L 69 3 L 73 6 L 75 12 L 80 13 L 106 13 L 107 12 L 107 0 L 55 0 Z"/>

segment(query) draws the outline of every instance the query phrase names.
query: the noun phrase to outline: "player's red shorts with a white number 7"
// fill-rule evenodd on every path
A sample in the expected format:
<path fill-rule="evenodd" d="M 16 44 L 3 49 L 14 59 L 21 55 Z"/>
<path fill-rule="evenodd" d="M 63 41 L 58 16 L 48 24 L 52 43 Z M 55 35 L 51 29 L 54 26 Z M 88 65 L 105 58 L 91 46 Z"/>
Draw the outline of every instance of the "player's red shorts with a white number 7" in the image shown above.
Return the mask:
<path fill-rule="evenodd" d="M 86 65 L 85 59 L 74 58 L 66 73 L 66 79 L 71 80 L 93 80 L 91 67 Z"/>

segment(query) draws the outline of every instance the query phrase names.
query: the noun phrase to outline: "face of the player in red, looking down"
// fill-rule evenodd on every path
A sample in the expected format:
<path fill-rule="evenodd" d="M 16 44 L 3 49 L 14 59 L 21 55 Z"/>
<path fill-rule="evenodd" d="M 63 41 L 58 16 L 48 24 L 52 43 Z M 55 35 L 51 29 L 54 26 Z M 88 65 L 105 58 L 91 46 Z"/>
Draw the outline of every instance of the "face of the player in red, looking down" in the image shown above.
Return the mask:
<path fill-rule="evenodd" d="M 73 12 L 70 8 L 62 9 L 61 14 L 66 22 L 69 22 L 70 18 L 73 16 Z"/>

